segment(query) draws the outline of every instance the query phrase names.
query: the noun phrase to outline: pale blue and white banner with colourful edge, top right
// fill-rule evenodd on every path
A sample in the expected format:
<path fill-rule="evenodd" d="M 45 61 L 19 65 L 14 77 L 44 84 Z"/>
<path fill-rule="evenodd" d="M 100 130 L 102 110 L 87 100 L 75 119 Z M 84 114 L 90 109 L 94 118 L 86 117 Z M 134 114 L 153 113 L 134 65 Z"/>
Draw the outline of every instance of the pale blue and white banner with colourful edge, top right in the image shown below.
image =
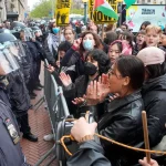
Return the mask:
<path fill-rule="evenodd" d="M 126 10 L 126 23 L 129 29 L 133 29 L 133 32 L 138 32 L 144 21 L 149 21 L 152 24 L 164 29 L 166 24 L 166 7 L 132 6 Z"/>

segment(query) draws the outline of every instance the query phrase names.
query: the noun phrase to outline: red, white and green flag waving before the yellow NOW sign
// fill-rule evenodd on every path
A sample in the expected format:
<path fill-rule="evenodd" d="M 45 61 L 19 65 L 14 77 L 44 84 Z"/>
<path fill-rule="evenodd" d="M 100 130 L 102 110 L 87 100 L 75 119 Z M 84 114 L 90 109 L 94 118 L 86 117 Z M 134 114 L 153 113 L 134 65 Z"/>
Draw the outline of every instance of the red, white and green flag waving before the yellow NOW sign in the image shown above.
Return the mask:
<path fill-rule="evenodd" d="M 95 0 L 94 10 L 101 11 L 104 15 L 118 20 L 117 13 L 106 0 Z"/>

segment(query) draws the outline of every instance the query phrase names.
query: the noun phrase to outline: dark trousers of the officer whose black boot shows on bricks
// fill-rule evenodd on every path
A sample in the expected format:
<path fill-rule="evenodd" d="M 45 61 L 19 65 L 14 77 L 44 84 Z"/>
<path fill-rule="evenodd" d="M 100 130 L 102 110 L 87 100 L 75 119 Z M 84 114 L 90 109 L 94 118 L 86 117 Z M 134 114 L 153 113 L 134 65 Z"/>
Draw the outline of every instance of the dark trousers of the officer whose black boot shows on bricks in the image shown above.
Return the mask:
<path fill-rule="evenodd" d="M 29 133 L 31 133 L 31 128 L 30 128 L 30 125 L 29 125 L 29 115 L 28 113 L 20 116 L 20 117 L 17 117 L 18 120 L 18 123 L 20 125 L 20 132 L 23 133 L 23 135 L 27 135 Z"/>

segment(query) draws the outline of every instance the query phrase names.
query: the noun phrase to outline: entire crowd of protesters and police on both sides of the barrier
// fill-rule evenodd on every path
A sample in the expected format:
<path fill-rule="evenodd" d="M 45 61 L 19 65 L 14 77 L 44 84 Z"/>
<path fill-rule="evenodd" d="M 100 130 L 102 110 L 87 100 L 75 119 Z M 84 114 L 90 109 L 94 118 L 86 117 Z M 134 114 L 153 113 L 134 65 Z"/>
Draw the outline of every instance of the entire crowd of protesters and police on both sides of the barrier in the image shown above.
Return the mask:
<path fill-rule="evenodd" d="M 158 149 L 166 136 L 165 49 L 166 33 L 148 21 L 136 34 L 125 23 L 120 28 L 107 25 L 101 32 L 90 21 L 77 34 L 73 24 L 63 29 L 55 22 L 49 27 L 28 27 L 18 21 L 1 24 L 0 165 L 27 165 L 19 144 L 20 131 L 24 138 L 38 142 L 31 133 L 28 111 L 32 107 L 30 98 L 37 96 L 34 90 L 43 87 L 39 75 L 44 59 L 49 62 L 46 69 L 63 87 L 70 114 L 79 118 L 71 135 L 80 149 L 66 165 L 166 165 L 165 156 L 152 155 L 157 162 L 147 163 L 143 153 L 103 139 L 98 143 L 94 137 L 97 129 L 111 139 L 144 148 L 145 110 L 149 146 Z M 92 124 L 81 117 L 87 110 L 95 121 Z M 44 136 L 45 141 L 52 138 L 52 134 Z M 162 151 L 166 151 L 164 145 Z M 8 149 L 12 149 L 10 154 Z"/>

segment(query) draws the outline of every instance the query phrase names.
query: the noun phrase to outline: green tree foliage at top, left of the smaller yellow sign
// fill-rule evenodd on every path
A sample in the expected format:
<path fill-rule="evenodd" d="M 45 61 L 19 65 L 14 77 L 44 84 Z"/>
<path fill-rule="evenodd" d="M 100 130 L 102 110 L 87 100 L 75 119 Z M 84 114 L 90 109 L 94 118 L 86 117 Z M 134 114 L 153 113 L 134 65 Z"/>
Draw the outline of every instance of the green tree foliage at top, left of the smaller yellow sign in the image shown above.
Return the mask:
<path fill-rule="evenodd" d="M 50 11 L 52 11 L 52 0 L 41 0 L 37 3 L 33 10 L 30 12 L 31 18 L 42 18 L 51 17 Z"/>

